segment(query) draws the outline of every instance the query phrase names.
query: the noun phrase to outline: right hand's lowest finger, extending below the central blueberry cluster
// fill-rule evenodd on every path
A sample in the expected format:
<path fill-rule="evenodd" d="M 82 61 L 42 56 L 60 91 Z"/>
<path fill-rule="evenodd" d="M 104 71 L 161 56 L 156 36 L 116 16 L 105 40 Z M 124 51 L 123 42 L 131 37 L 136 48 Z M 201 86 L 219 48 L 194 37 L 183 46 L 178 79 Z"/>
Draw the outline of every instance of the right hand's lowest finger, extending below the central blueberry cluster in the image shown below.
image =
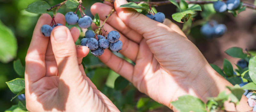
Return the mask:
<path fill-rule="evenodd" d="M 134 67 L 131 63 L 117 57 L 109 49 L 105 49 L 104 53 L 98 58 L 117 74 L 120 74 L 128 81 L 132 82 L 132 73 Z"/>

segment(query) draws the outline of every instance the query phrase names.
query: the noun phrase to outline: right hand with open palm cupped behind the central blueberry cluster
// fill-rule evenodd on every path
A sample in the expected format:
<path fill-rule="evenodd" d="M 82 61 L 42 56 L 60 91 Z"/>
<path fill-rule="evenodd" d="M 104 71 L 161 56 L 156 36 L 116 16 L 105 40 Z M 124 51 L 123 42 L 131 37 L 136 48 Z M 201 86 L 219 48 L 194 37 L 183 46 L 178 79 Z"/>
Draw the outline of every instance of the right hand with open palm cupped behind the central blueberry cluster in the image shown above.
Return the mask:
<path fill-rule="evenodd" d="M 130 81 L 140 92 L 177 111 L 170 104 L 179 96 L 190 94 L 207 101 L 232 86 L 209 65 L 198 48 L 180 28 L 165 19 L 164 24 L 149 19 L 131 8 L 119 8 L 126 0 L 115 0 L 114 12 L 106 21 L 107 31 L 117 30 L 123 48 L 119 51 L 135 62 L 135 66 L 106 49 L 99 59 L 116 73 Z M 113 9 L 105 2 L 93 4 L 101 23 Z M 114 28 L 112 28 L 114 27 Z M 92 29 L 96 29 L 92 24 Z M 243 96 L 240 107 L 248 107 Z M 246 106 L 247 105 L 247 106 Z M 234 111 L 233 105 L 228 105 Z M 248 108 L 247 108 L 248 109 Z M 250 108 L 249 108 L 250 109 Z"/>

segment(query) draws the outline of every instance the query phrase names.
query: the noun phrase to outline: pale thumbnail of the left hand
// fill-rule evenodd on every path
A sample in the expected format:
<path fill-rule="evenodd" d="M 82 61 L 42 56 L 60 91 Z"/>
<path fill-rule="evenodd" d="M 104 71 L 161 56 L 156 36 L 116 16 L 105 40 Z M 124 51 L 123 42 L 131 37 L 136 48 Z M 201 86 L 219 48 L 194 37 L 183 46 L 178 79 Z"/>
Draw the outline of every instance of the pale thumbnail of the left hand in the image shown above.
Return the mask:
<path fill-rule="evenodd" d="M 64 42 L 68 38 L 67 31 L 66 29 L 63 29 L 63 28 L 55 29 L 53 32 L 53 36 L 57 42 Z"/>

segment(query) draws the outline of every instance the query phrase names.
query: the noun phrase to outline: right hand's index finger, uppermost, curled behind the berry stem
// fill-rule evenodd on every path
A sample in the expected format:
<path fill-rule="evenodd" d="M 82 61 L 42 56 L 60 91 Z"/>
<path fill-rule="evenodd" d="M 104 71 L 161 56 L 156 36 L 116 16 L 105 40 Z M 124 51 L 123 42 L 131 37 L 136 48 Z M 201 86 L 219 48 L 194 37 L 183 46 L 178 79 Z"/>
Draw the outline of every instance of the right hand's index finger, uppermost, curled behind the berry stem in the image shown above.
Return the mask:
<path fill-rule="evenodd" d="M 95 3 L 91 7 L 91 12 L 93 15 L 98 13 L 100 15 L 100 19 L 105 20 L 106 19 L 105 16 L 107 16 L 109 14 L 109 12 L 111 12 L 112 9 L 113 9 L 113 7 L 111 7 L 109 5 L 102 4 L 102 3 Z M 124 34 L 124 36 L 126 36 L 127 38 L 129 38 L 130 40 L 132 40 L 136 43 L 140 43 L 141 39 L 143 38 L 143 36 L 141 34 L 132 30 L 131 28 L 127 27 L 124 24 L 124 22 L 118 17 L 116 12 L 114 12 L 111 16 L 109 16 L 109 18 L 106 22 L 109 25 L 111 25 L 112 27 L 116 28 L 122 34 Z M 138 26 L 138 27 L 140 27 L 140 26 Z"/>

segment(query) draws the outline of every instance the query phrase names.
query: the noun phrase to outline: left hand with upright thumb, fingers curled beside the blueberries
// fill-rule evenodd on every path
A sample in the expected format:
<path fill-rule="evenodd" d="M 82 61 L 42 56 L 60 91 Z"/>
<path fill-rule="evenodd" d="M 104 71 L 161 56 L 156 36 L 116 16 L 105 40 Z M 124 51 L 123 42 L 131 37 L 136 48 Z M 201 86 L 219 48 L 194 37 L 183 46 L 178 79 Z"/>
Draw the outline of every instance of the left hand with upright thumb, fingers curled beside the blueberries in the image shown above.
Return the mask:
<path fill-rule="evenodd" d="M 37 21 L 26 56 L 26 106 L 30 112 L 119 112 L 116 106 L 85 75 L 81 65 L 89 49 L 75 45 L 80 32 L 58 26 L 51 37 L 40 29 L 50 25 L 51 16 L 43 14 Z M 63 14 L 57 23 L 65 25 Z"/>

